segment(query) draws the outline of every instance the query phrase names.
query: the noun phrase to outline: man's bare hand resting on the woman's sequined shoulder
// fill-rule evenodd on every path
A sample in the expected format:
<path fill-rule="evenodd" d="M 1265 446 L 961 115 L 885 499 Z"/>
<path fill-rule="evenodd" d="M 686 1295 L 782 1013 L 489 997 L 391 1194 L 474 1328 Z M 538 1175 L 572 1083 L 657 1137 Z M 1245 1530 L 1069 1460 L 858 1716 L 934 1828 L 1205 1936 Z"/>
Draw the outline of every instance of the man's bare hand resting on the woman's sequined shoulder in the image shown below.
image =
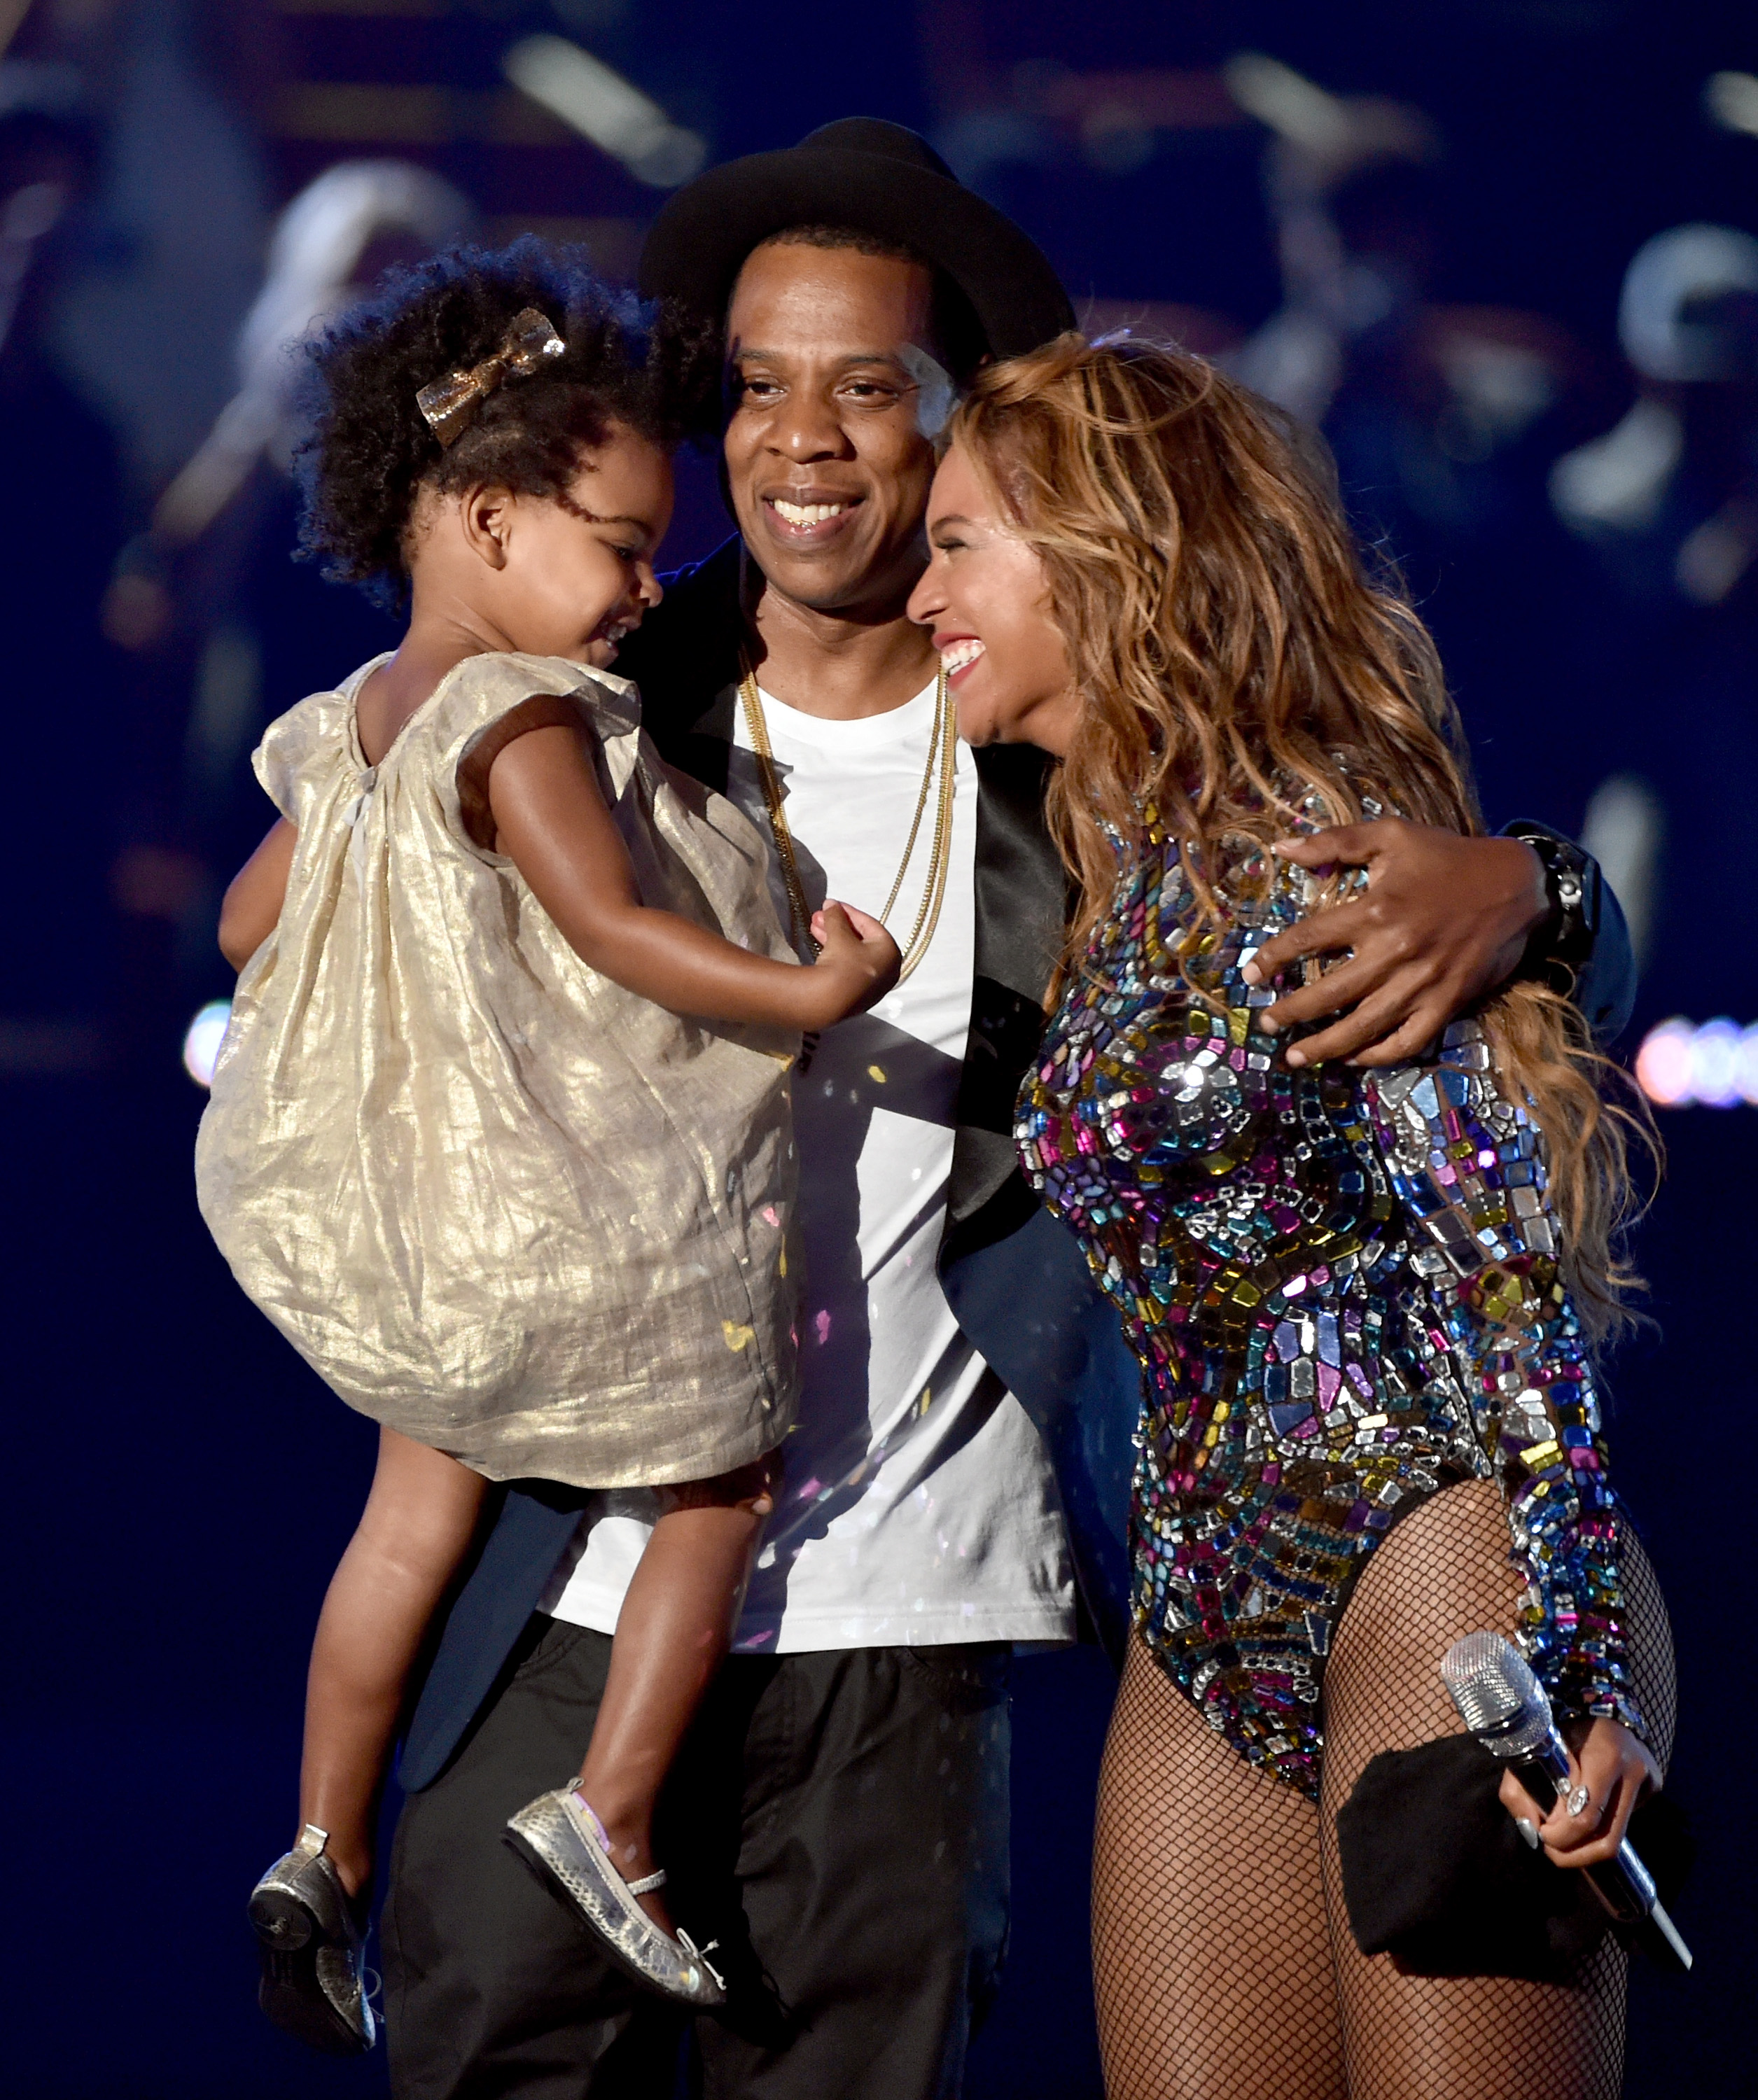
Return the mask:
<path fill-rule="evenodd" d="M 1460 838 L 1428 823 L 1380 817 L 1275 850 L 1300 867 L 1367 869 L 1367 890 L 1267 941 L 1246 968 L 1267 985 L 1302 956 L 1355 949 L 1325 976 L 1264 1008 L 1260 1027 L 1290 1029 L 1342 1014 L 1288 1050 L 1290 1065 L 1399 1065 L 1420 1056 L 1449 1021 L 1519 964 L 1550 909 L 1544 863 L 1519 838 Z"/>

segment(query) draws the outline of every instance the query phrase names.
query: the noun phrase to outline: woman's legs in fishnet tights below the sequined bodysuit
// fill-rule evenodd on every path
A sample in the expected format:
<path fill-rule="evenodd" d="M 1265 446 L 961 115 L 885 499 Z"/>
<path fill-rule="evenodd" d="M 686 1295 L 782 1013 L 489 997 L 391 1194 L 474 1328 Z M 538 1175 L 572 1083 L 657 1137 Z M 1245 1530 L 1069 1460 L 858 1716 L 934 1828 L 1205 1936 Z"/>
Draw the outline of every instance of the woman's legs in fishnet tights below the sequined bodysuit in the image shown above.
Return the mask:
<path fill-rule="evenodd" d="M 1626 1539 L 1636 1699 L 1666 1766 L 1666 1606 Z M 1321 1808 L 1252 1770 L 1130 1644 L 1094 1842 L 1094 1987 L 1109 2100 L 1617 2100 L 1626 1955 L 1567 1984 L 1401 1976 L 1348 1932 L 1336 1810 L 1382 1749 L 1456 1735 L 1441 1655 L 1512 1632 L 1493 1483 L 1414 1510 L 1367 1562 L 1325 1672 Z M 1323 1833 L 1323 1835 L 1321 1835 Z"/>

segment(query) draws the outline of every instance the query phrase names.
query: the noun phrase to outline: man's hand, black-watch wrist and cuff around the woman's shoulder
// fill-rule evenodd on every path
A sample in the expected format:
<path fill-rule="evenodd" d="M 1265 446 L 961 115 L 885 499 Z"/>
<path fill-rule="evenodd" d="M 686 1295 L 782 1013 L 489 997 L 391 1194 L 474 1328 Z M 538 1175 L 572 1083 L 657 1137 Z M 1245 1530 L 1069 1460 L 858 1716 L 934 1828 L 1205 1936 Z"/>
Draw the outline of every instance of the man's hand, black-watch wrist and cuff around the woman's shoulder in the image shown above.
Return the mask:
<path fill-rule="evenodd" d="M 1302 956 L 1353 949 L 1267 1010 L 1271 1029 L 1338 1016 L 1292 1046 L 1290 1065 L 1399 1065 L 1420 1056 L 1453 1016 L 1516 970 L 1573 979 L 1575 1000 L 1603 1042 L 1624 1027 L 1634 962 L 1617 901 L 1579 848 L 1542 825 L 1516 830 L 1523 836 L 1462 838 L 1382 817 L 1277 844 L 1302 867 L 1367 869 L 1361 897 L 1290 926 L 1248 970 L 1254 983 L 1269 983 Z M 1561 880 L 1556 863 L 1567 863 Z"/>

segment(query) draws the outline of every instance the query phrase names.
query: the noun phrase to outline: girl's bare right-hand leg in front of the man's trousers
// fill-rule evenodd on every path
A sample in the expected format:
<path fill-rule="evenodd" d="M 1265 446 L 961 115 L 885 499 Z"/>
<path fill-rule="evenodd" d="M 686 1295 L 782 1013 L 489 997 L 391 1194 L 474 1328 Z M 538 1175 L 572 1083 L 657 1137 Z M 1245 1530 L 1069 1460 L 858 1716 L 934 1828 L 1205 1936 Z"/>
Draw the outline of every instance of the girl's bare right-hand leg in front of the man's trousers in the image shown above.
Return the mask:
<path fill-rule="evenodd" d="M 660 1489 L 660 1520 L 611 1642 L 611 1670 L 580 1796 L 626 1882 L 653 1873 L 653 1806 L 708 1682 L 733 1640 L 777 1468 L 758 1460 L 714 1480 Z M 639 1898 L 672 1930 L 660 1890 Z"/>

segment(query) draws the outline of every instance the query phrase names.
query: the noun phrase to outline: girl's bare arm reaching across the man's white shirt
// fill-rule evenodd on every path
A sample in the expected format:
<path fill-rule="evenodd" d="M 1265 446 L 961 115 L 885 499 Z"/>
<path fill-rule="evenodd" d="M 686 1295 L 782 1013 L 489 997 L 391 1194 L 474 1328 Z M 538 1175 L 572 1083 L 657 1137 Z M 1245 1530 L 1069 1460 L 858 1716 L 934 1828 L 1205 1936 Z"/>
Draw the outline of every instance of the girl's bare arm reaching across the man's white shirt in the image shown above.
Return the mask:
<path fill-rule="evenodd" d="M 825 905 L 811 968 L 752 956 L 672 911 L 643 905 L 584 727 L 544 724 L 489 769 L 496 846 L 582 962 L 674 1014 L 823 1029 L 897 983 L 897 943 L 863 911 Z"/>

